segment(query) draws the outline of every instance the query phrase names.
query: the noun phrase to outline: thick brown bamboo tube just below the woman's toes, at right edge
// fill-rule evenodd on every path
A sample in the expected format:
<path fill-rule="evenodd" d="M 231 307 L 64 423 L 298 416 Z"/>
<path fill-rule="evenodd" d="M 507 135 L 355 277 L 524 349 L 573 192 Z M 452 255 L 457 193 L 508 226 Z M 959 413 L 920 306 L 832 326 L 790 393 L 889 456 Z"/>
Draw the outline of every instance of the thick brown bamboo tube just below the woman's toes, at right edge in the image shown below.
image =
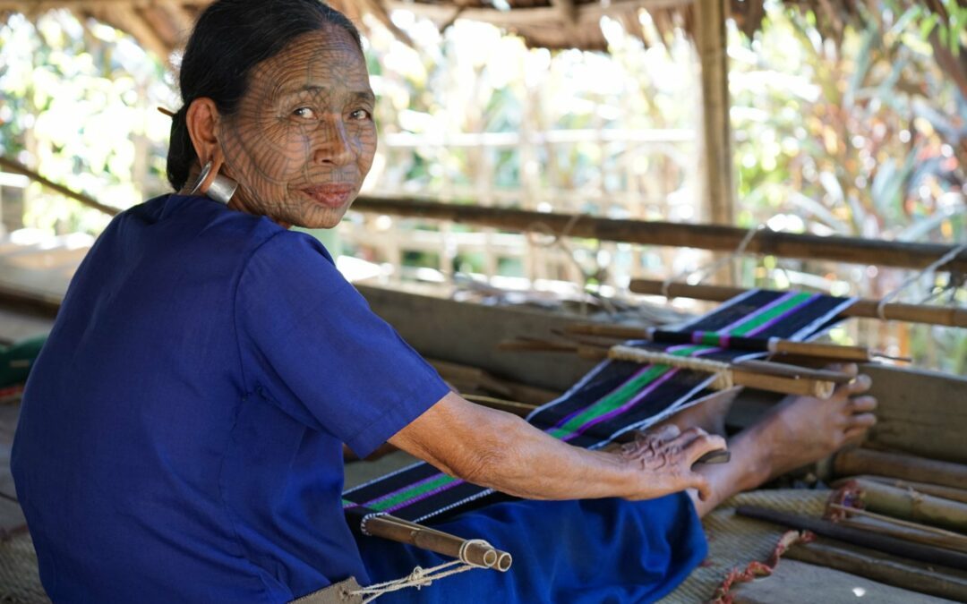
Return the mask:
<path fill-rule="evenodd" d="M 967 466 L 962 464 L 861 447 L 837 453 L 833 472 L 839 476 L 890 476 L 956 489 L 967 485 Z"/>

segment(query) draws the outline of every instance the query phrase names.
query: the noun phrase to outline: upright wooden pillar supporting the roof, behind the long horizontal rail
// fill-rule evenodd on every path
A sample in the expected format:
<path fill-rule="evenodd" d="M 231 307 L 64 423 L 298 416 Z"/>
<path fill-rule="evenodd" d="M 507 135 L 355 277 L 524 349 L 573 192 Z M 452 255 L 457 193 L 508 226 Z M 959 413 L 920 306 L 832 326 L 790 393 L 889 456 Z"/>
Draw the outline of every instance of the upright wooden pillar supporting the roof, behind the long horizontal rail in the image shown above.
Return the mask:
<path fill-rule="evenodd" d="M 695 48 L 702 81 L 701 222 L 732 225 L 735 185 L 729 127 L 726 0 L 697 0 Z"/>

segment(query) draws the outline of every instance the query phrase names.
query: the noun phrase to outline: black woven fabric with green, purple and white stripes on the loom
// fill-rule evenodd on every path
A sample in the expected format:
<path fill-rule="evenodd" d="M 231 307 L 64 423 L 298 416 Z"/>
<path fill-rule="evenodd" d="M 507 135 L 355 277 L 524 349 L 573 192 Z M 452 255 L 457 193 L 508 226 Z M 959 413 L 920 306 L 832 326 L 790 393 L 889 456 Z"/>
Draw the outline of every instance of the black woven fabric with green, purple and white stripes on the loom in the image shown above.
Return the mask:
<path fill-rule="evenodd" d="M 719 348 L 728 336 L 806 340 L 828 328 L 851 299 L 820 294 L 753 290 L 683 326 L 695 344 L 630 342 L 637 348 L 683 357 L 745 360 L 763 353 Z M 528 417 L 534 426 L 575 446 L 605 446 L 624 432 L 645 428 L 707 394 L 709 373 L 662 364 L 606 360 L 560 398 Z M 485 498 L 485 499 L 484 499 Z M 420 522 L 471 503 L 506 498 L 418 463 L 343 494 L 350 517 L 388 513 Z"/>

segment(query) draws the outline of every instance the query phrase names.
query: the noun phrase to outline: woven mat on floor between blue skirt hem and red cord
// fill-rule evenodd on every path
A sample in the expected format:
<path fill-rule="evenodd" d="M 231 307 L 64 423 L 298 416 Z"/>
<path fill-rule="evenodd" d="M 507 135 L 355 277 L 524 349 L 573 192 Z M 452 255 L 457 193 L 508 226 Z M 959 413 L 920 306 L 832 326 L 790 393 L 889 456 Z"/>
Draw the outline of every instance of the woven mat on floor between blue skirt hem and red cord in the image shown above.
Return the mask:
<path fill-rule="evenodd" d="M 707 602 L 733 568 L 743 569 L 751 561 L 766 561 L 785 532 L 775 525 L 735 513 L 739 505 L 758 505 L 780 511 L 823 515 L 828 490 L 777 489 L 742 493 L 719 505 L 702 520 L 709 539 L 709 556 L 689 578 L 660 600 L 660 604 Z"/>

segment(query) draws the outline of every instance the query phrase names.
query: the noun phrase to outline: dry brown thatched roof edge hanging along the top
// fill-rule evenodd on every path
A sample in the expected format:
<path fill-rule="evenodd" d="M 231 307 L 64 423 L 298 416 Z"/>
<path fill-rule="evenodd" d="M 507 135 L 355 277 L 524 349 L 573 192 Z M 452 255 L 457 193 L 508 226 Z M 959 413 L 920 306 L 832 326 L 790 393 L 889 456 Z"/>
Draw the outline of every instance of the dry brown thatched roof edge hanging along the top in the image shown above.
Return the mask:
<path fill-rule="evenodd" d="M 211 0 L 0 0 L 0 14 L 38 14 L 52 8 L 68 8 L 79 16 L 93 16 L 131 33 L 145 48 L 167 56 L 182 45 L 194 17 Z M 729 15 L 747 34 L 753 33 L 765 14 L 765 0 L 722 0 Z M 846 24 L 861 18 L 866 0 L 786 0 L 789 5 L 812 10 L 820 31 L 839 38 Z M 371 14 L 397 36 L 389 12 L 405 9 L 432 19 L 445 29 L 457 18 L 494 23 L 521 36 L 531 46 L 604 50 L 600 19 L 606 14 L 621 21 L 627 31 L 646 44 L 639 13 L 650 14 L 659 37 L 667 40 L 676 28 L 693 31 L 695 3 L 692 0 L 331 0 L 340 11 L 362 22 Z M 927 0 L 934 12 L 944 14 L 941 0 Z"/>

